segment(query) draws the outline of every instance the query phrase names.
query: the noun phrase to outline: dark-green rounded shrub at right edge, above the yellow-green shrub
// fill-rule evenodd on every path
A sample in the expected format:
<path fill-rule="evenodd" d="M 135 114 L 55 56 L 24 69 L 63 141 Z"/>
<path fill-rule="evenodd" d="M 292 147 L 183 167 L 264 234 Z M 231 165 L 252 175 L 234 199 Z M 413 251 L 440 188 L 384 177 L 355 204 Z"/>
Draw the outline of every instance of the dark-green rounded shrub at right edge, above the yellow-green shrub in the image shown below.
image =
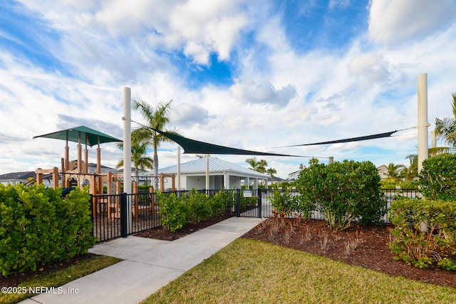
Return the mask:
<path fill-rule="evenodd" d="M 423 161 L 418 175 L 428 199 L 456 201 L 456 154 L 440 154 Z"/>

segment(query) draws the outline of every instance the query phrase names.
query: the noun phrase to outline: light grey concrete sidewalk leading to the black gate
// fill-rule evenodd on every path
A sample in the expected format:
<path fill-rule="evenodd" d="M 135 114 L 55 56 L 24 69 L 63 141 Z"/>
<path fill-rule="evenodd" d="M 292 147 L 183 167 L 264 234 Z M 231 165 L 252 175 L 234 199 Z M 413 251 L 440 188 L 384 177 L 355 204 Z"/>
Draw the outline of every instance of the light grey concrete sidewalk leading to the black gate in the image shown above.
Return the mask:
<path fill-rule="evenodd" d="M 96 245 L 90 253 L 124 261 L 21 303 L 138 303 L 260 222 L 233 217 L 175 241 L 128 236 Z"/>

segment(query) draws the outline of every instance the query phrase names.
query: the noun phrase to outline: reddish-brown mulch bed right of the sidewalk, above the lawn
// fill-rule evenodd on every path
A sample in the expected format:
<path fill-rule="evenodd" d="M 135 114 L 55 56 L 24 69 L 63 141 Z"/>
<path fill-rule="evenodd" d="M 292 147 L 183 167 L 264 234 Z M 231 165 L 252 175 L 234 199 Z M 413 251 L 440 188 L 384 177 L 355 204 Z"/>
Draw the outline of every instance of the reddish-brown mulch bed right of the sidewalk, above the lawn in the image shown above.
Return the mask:
<path fill-rule="evenodd" d="M 415 281 L 456 288 L 456 272 L 439 268 L 420 269 L 396 261 L 388 248 L 388 226 L 351 227 L 333 232 L 325 221 L 284 219 L 277 233 L 277 224 L 270 218 L 247 234 L 247 239 L 266 241 L 318 256 L 331 258 L 354 266 L 369 268 L 391 276 L 403 276 Z M 306 231 L 309 231 L 306 233 Z M 326 246 L 323 246 L 326 238 Z M 356 242 L 356 248 L 347 250 L 348 241 Z"/>

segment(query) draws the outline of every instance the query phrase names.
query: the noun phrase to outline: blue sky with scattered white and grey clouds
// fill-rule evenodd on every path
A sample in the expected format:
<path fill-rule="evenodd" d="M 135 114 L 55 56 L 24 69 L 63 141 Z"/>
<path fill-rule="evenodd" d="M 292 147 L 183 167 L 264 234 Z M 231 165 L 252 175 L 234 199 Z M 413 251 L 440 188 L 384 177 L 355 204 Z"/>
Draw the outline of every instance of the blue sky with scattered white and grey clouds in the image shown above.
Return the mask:
<path fill-rule="evenodd" d="M 454 0 L 1 1 L 0 174 L 60 167 L 64 142 L 36 135 L 87 125 L 122 138 L 125 86 L 152 105 L 172 99 L 171 124 L 196 140 L 408 164 L 415 129 L 270 147 L 415 127 L 421 73 L 432 130 L 452 115 L 455 14 Z M 175 164 L 176 148 L 162 145 L 159 167 Z M 103 164 L 121 157 L 103 145 Z M 309 162 L 264 159 L 282 178 Z"/>

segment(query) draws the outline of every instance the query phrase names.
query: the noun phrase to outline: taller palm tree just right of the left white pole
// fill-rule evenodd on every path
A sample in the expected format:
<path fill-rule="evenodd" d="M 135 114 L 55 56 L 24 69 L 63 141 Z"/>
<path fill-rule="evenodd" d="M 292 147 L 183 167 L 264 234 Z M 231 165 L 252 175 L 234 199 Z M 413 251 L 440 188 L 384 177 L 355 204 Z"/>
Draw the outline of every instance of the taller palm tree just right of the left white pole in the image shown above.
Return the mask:
<path fill-rule="evenodd" d="M 151 105 L 146 103 L 144 100 L 133 100 L 132 106 L 134 110 L 138 110 L 142 117 L 146 120 L 147 125 L 143 125 L 133 130 L 131 133 L 132 142 L 152 142 L 154 148 L 153 167 L 154 175 L 158 176 L 158 154 L 157 149 L 160 147 L 162 142 L 172 142 L 169 138 L 161 135 L 155 130 L 169 132 L 175 135 L 180 135 L 175 128 L 168 128 L 170 122 L 170 105 L 172 100 L 167 103 L 159 103 L 155 109 Z M 150 127 L 155 130 L 150 129 Z M 158 180 L 155 178 L 154 182 L 155 189 L 158 189 Z"/>

